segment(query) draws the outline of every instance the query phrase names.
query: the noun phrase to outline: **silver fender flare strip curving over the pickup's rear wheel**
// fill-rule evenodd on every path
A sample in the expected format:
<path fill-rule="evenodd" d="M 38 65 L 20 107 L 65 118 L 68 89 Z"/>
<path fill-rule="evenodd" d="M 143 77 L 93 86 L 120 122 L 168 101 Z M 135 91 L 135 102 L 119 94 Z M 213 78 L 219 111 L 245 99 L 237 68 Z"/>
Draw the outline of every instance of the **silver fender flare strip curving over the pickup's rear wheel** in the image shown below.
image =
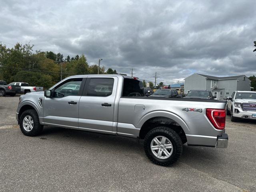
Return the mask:
<path fill-rule="evenodd" d="M 169 119 L 172 119 L 174 121 L 176 121 L 181 128 L 184 130 L 185 134 L 188 134 L 188 132 L 190 131 L 188 128 L 188 125 L 186 124 L 186 122 L 184 122 L 184 120 L 182 120 L 182 118 L 180 118 L 180 116 L 169 112 L 169 111 L 164 111 L 164 110 L 158 110 L 158 111 L 152 111 L 149 112 L 148 114 L 145 114 L 138 122 L 137 126 L 138 128 L 142 128 L 143 124 L 154 117 L 166 117 Z"/>

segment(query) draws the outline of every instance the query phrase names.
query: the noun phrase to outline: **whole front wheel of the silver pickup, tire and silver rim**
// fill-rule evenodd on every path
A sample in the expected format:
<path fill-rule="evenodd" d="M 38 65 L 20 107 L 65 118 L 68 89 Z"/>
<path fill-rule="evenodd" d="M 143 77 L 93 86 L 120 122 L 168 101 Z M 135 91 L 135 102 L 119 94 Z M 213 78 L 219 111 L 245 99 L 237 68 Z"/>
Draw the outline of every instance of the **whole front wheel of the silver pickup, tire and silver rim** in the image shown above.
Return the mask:
<path fill-rule="evenodd" d="M 22 112 L 20 116 L 20 130 L 26 136 L 37 136 L 42 132 L 43 126 L 39 122 L 36 110 L 29 109 Z"/>

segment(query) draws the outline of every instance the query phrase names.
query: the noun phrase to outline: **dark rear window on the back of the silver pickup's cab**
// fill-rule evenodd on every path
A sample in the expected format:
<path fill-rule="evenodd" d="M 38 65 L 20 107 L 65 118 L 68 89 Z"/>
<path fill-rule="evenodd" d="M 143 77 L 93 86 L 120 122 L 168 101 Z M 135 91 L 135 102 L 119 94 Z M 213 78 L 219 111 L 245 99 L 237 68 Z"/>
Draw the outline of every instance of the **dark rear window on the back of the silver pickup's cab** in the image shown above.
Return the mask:
<path fill-rule="evenodd" d="M 138 97 L 145 96 L 144 86 L 142 81 L 132 78 L 124 78 L 123 97 Z"/>

